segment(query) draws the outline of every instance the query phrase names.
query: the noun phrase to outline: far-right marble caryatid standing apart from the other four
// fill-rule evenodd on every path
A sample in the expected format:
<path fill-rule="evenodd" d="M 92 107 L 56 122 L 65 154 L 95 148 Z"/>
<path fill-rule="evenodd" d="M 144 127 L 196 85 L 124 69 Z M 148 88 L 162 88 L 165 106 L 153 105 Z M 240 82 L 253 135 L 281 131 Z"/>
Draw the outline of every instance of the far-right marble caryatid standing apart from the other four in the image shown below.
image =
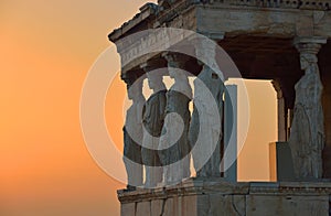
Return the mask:
<path fill-rule="evenodd" d="M 316 54 L 301 53 L 305 75 L 296 84 L 296 101 L 289 144 L 297 179 L 322 177 L 324 147 L 322 84 Z"/>

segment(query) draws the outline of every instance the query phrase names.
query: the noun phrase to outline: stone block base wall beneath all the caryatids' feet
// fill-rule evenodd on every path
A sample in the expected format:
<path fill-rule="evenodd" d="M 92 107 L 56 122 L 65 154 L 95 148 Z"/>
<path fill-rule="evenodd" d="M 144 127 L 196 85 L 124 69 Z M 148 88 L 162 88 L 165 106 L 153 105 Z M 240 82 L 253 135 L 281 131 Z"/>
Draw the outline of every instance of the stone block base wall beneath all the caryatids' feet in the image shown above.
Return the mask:
<path fill-rule="evenodd" d="M 329 182 L 236 183 L 191 179 L 180 185 L 118 191 L 121 216 L 329 215 Z"/>

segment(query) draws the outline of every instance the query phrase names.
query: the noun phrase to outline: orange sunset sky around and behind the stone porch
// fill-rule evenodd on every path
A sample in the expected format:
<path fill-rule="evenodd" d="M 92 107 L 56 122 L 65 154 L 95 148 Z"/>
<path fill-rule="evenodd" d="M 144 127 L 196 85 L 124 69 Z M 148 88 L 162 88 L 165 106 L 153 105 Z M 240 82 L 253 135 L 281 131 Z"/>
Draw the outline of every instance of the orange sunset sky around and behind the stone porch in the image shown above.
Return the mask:
<path fill-rule="evenodd" d="M 0 215 L 119 215 L 124 185 L 89 155 L 79 127 L 84 79 L 109 46 L 108 33 L 143 0 L 1 0 Z M 118 71 L 118 56 L 109 57 Z M 276 96 L 247 82 L 250 127 L 241 180 L 268 180 L 268 142 L 276 140 Z M 121 149 L 125 85 L 117 77 L 106 100 L 109 134 Z M 117 109 L 118 108 L 118 109 Z"/>

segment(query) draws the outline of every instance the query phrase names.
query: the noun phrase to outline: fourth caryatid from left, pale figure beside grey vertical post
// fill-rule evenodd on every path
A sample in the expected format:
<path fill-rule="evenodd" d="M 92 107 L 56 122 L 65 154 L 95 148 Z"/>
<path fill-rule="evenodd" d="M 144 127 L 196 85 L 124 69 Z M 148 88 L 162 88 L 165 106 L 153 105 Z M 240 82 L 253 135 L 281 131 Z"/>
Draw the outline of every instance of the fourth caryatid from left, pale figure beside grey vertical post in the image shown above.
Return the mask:
<path fill-rule="evenodd" d="M 194 80 L 190 143 L 196 176 L 221 177 L 221 140 L 224 83 L 213 43 L 196 43 L 202 71 Z M 203 61 L 203 62 L 202 62 Z"/>

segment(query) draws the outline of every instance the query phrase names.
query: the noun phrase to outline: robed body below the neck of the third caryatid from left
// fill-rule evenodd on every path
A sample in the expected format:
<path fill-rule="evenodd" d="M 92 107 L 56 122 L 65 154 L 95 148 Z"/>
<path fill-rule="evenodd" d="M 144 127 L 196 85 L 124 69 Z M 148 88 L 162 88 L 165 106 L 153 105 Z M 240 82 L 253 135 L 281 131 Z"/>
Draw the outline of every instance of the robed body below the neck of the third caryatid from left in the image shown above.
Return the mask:
<path fill-rule="evenodd" d="M 163 150 L 159 152 L 166 184 L 175 183 L 190 176 L 190 160 L 184 159 L 190 152 L 188 141 L 191 119 L 190 100 L 189 97 L 177 90 L 170 89 L 167 93 L 166 114 L 168 116 L 163 126 L 163 137 L 160 140 L 160 148 Z"/>

